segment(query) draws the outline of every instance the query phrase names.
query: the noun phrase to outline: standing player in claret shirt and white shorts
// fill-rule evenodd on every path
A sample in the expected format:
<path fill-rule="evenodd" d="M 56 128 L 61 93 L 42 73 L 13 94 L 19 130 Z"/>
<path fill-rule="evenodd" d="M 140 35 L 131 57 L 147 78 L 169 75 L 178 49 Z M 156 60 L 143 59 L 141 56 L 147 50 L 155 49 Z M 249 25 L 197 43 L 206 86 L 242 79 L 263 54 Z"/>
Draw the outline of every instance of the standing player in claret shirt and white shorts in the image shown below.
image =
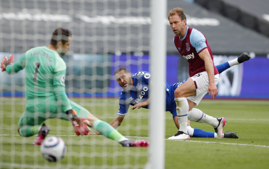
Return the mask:
<path fill-rule="evenodd" d="M 190 78 L 175 89 L 175 103 L 180 128 L 177 134 L 168 139 L 190 139 L 187 132 L 188 112 L 198 106 L 208 92 L 212 98 L 218 94 L 218 69 L 214 66 L 213 55 L 207 39 L 200 31 L 187 26 L 186 16 L 181 8 L 168 13 L 170 27 L 175 33 L 174 44 L 178 52 L 189 62 Z M 210 120 L 217 138 L 222 139 L 225 118 Z"/>

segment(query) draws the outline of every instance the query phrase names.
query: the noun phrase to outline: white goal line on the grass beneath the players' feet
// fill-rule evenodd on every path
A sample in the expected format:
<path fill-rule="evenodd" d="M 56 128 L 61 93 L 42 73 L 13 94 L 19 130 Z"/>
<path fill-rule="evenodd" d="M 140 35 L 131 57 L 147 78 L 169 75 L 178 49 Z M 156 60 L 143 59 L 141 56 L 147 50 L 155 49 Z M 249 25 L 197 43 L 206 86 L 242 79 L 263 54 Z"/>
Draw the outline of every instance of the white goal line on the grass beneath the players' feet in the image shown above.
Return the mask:
<path fill-rule="evenodd" d="M 0 136 L 20 136 L 20 135 L 1 134 Z M 77 136 L 77 135 L 50 135 L 50 136 Z M 85 135 L 85 136 L 103 137 L 102 135 Z M 149 137 L 136 137 L 136 136 L 124 136 L 124 137 L 150 139 Z M 186 142 L 202 142 L 202 143 L 216 143 L 216 144 L 227 144 L 227 145 L 245 145 L 245 146 L 267 147 L 267 148 L 269 148 L 269 146 L 267 146 L 267 145 L 255 145 L 255 144 L 240 144 L 240 143 L 228 143 L 228 142 L 209 142 L 209 141 L 192 141 L 192 140 L 171 140 L 171 139 L 165 139 L 165 140 L 169 140 L 169 141 L 186 141 Z"/>

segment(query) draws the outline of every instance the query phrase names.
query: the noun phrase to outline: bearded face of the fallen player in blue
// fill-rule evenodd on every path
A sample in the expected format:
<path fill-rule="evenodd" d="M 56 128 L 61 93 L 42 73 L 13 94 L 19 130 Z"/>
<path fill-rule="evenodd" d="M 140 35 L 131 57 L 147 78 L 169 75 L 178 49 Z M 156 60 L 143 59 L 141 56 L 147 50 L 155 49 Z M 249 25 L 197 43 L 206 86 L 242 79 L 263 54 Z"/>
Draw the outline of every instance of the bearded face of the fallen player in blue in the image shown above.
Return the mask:
<path fill-rule="evenodd" d="M 133 84 L 131 77 L 131 73 L 127 74 L 123 70 L 115 75 L 115 79 L 117 80 L 119 85 L 125 90 L 130 90 L 132 88 Z"/>

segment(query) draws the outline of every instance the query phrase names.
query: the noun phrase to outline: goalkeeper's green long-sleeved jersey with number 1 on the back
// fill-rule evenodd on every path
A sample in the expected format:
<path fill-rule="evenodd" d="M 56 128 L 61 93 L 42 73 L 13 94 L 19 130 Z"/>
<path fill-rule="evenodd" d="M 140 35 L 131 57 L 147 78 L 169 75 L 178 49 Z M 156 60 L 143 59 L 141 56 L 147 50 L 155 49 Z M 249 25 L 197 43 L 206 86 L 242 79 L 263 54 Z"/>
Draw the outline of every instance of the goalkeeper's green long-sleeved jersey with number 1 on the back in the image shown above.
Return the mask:
<path fill-rule="evenodd" d="M 62 112 L 70 110 L 71 104 L 65 93 L 66 65 L 59 54 L 46 46 L 35 47 L 8 65 L 8 74 L 25 68 L 25 97 L 30 100 L 56 100 Z"/>

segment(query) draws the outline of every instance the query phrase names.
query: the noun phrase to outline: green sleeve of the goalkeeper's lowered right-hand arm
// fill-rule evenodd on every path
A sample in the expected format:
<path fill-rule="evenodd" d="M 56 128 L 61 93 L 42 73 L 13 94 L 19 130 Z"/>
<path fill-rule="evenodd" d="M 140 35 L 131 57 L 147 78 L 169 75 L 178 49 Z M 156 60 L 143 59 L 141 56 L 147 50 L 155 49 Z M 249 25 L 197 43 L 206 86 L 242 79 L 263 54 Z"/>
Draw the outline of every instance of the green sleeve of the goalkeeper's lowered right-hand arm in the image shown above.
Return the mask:
<path fill-rule="evenodd" d="M 72 109 L 72 107 L 71 107 L 70 100 L 68 99 L 65 93 L 66 65 L 64 61 L 62 61 L 61 64 L 62 64 L 61 67 L 59 67 L 57 63 L 55 65 L 57 66 L 57 68 L 56 68 L 56 71 L 54 71 L 54 76 L 53 76 L 53 89 L 54 89 L 54 94 L 57 99 L 58 105 L 61 105 L 62 112 L 66 112 Z"/>

